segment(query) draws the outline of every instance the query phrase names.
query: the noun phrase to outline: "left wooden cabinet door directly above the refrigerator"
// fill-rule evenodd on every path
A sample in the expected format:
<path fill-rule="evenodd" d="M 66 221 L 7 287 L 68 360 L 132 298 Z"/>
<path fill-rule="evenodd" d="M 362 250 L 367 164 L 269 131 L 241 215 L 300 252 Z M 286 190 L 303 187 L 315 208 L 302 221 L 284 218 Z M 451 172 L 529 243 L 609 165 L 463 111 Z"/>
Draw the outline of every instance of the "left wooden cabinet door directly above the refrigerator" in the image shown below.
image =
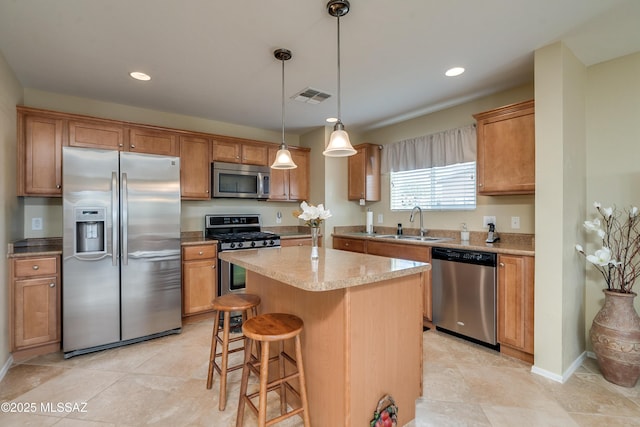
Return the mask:
<path fill-rule="evenodd" d="M 124 150 L 124 126 L 110 122 L 69 120 L 69 145 Z"/>

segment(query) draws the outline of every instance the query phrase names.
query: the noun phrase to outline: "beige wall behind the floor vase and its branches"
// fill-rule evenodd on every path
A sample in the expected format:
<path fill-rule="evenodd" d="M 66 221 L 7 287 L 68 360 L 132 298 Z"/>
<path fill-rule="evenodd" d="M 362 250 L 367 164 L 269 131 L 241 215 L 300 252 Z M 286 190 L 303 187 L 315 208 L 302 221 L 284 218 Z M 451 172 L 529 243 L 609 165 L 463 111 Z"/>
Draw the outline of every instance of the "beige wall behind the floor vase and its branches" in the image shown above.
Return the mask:
<path fill-rule="evenodd" d="M 619 209 L 640 207 L 640 52 L 589 67 L 587 72 L 587 196 L 583 217 L 593 202 Z M 587 237 L 581 234 L 582 242 Z M 594 249 L 587 246 L 589 250 Z M 604 297 L 602 276 L 586 266 L 585 329 L 589 333 Z M 640 292 L 640 283 L 634 287 Z M 640 312 L 640 298 L 635 299 Z M 591 344 L 587 339 L 588 349 Z"/>

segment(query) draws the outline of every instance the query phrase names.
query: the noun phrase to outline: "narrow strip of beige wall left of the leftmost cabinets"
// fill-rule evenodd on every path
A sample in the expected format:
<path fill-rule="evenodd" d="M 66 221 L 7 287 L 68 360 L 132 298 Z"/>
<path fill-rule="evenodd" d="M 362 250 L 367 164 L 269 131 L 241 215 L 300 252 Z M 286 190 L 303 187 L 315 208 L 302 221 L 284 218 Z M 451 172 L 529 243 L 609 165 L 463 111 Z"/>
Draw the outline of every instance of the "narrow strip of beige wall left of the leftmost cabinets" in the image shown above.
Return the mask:
<path fill-rule="evenodd" d="M 0 378 L 9 360 L 7 245 L 22 237 L 22 199 L 16 197 L 16 104 L 22 86 L 0 54 Z"/>

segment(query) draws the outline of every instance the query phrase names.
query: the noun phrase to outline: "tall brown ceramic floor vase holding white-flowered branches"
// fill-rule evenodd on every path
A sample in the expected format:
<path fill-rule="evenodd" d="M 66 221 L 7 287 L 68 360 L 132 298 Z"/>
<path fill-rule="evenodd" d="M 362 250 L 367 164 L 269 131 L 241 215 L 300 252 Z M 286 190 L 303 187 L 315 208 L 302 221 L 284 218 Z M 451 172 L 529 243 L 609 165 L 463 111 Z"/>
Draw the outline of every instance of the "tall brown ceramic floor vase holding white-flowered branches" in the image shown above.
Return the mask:
<path fill-rule="evenodd" d="M 604 291 L 604 306 L 591 325 L 591 343 L 604 378 L 633 387 L 640 377 L 640 316 L 635 293 Z"/>

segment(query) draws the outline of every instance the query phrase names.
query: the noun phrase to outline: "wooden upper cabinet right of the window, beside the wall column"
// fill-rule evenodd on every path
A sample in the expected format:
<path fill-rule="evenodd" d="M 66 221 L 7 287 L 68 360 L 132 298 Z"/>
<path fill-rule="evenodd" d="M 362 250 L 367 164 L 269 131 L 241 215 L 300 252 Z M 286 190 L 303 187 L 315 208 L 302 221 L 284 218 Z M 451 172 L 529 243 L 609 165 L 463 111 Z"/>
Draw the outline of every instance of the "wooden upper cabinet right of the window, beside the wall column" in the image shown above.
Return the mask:
<path fill-rule="evenodd" d="M 534 101 L 474 114 L 478 194 L 535 193 Z"/>

